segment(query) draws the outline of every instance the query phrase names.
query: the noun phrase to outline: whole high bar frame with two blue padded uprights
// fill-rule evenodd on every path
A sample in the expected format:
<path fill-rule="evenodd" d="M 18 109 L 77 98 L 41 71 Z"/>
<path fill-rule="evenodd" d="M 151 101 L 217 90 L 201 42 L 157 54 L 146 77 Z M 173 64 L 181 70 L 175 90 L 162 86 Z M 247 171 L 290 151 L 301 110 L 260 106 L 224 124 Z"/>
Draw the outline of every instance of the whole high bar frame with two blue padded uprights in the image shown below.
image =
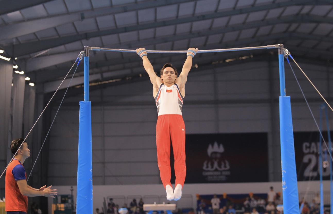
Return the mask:
<path fill-rule="evenodd" d="M 288 59 L 288 56 L 291 57 L 290 53 L 287 49 L 283 48 L 283 44 L 258 47 L 199 50 L 198 53 L 271 48 L 277 48 L 279 56 L 279 109 L 283 210 L 285 214 L 296 214 L 299 213 L 299 205 L 294 150 L 294 135 L 291 117 L 290 96 L 286 96 L 284 76 L 284 58 L 286 57 Z M 77 213 L 93 213 L 91 104 L 89 101 L 89 51 L 119 51 L 136 53 L 136 50 L 110 49 L 88 46 L 85 46 L 84 51 L 80 53 L 81 57 L 84 57 L 84 101 L 80 101 Z M 186 53 L 186 50 L 147 50 L 147 53 Z"/>

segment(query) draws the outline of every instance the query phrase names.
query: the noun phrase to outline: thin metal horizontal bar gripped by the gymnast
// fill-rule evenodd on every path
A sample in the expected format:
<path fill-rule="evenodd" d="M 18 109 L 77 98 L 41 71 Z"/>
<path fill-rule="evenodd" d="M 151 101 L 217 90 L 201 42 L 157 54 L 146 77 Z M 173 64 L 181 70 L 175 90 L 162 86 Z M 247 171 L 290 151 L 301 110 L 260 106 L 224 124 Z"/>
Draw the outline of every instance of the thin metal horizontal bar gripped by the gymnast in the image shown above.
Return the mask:
<path fill-rule="evenodd" d="M 225 52 L 225 51 L 236 51 L 236 50 L 254 50 L 254 49 L 270 49 L 278 48 L 280 44 L 257 46 L 257 47 L 239 47 L 239 48 L 226 48 L 226 49 L 212 49 L 212 50 L 198 50 L 198 53 L 208 53 L 208 52 Z M 102 47 L 88 47 L 89 50 L 104 50 L 104 51 L 118 51 L 118 52 L 137 52 L 137 50 L 129 49 L 112 49 L 112 48 L 102 48 Z M 187 50 L 147 50 L 147 53 L 186 53 Z"/>

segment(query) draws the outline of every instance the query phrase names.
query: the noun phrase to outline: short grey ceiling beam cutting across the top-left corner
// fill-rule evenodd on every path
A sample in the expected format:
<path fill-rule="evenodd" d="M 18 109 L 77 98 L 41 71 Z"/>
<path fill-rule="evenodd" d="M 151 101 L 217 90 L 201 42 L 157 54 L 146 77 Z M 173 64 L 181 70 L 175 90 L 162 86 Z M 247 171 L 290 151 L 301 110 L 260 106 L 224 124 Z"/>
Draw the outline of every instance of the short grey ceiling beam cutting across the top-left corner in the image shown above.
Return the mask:
<path fill-rule="evenodd" d="M 53 0 L 5 0 L 1 1 L 0 15 L 22 10 L 24 8 L 33 7 Z"/>

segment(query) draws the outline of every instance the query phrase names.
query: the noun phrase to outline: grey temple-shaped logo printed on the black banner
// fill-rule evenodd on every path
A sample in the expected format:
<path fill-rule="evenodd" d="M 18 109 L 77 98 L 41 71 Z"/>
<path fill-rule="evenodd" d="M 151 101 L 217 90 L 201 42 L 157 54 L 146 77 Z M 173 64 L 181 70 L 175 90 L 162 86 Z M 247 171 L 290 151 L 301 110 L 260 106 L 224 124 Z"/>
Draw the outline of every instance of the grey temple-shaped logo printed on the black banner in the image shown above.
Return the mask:
<path fill-rule="evenodd" d="M 229 161 L 223 158 L 223 145 L 214 142 L 209 144 L 207 148 L 207 159 L 203 162 L 202 175 L 207 181 L 224 181 L 230 176 Z"/>

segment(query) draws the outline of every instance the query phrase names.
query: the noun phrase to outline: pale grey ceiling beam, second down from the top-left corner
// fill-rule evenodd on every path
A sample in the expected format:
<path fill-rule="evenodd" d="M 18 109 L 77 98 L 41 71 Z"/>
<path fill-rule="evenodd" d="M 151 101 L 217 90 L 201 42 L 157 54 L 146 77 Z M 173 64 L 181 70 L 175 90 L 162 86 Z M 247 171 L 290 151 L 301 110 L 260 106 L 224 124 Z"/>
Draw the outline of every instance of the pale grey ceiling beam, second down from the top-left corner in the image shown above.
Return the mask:
<path fill-rule="evenodd" d="M 127 6 L 115 6 L 112 8 L 102 8 L 93 11 L 85 12 L 75 12 L 66 15 L 57 15 L 42 19 L 31 20 L 27 22 L 15 23 L 7 26 L 0 27 L 0 41 L 4 39 L 11 39 L 19 36 L 24 36 L 27 34 L 35 33 L 41 30 L 46 30 L 49 28 L 54 28 L 60 25 L 65 25 L 68 23 L 81 21 L 82 16 L 85 19 L 112 15 L 117 13 L 124 13 L 130 11 L 137 11 L 141 9 L 148 9 L 154 7 L 161 7 L 172 4 L 179 4 L 183 2 L 189 2 L 192 0 L 163 0 L 163 1 L 150 1 L 140 4 L 132 4 Z"/>

